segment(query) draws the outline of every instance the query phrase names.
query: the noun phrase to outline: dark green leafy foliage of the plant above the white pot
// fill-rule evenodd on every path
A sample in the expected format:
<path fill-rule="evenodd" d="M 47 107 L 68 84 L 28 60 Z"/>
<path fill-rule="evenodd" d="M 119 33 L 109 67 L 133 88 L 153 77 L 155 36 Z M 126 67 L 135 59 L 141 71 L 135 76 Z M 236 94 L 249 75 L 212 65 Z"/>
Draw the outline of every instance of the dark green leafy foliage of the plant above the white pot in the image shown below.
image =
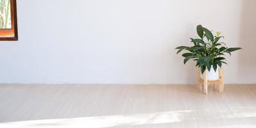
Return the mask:
<path fill-rule="evenodd" d="M 191 47 L 180 46 L 176 47 L 178 50 L 177 54 L 181 51 L 187 51 L 182 54 L 184 59 L 184 64 L 189 60 L 196 61 L 196 67 L 201 68 L 201 73 L 205 72 L 205 69 L 210 70 L 211 67 L 214 68 L 215 72 L 217 67 L 222 66 L 225 62 L 225 54 L 230 54 L 231 52 L 241 49 L 241 47 L 226 47 L 226 44 L 219 42 L 224 36 L 220 36 L 221 33 L 218 31 L 216 36 L 212 35 L 212 32 L 209 29 L 204 28 L 201 25 L 196 27 L 198 36 L 200 38 L 191 38 L 191 42 L 194 44 Z"/>

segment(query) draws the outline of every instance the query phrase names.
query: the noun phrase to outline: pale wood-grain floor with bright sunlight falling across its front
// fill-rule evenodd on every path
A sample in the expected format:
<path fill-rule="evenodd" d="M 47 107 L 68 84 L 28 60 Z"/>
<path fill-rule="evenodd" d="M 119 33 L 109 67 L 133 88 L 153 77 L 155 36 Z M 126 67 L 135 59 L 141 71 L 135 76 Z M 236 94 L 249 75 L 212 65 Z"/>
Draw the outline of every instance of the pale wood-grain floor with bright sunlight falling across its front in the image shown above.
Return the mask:
<path fill-rule="evenodd" d="M 0 127 L 256 127 L 256 85 L 1 84 Z"/>

